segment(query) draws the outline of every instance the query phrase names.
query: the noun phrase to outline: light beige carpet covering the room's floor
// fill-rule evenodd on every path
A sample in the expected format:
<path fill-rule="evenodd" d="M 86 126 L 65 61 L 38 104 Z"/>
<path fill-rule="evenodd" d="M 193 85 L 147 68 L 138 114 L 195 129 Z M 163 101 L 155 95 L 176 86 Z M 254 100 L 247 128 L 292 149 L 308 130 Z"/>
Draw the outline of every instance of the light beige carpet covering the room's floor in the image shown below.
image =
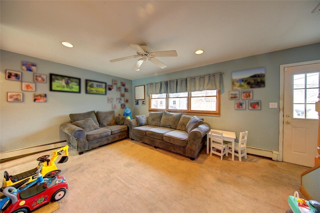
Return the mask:
<path fill-rule="evenodd" d="M 46 151 L 0 164 L 15 175 L 36 166 Z M 69 183 L 54 213 L 284 213 L 307 167 L 248 155 L 195 161 L 130 139 L 57 164 Z M 57 162 L 57 161 L 56 161 Z M 300 197 L 301 194 L 300 194 Z"/>

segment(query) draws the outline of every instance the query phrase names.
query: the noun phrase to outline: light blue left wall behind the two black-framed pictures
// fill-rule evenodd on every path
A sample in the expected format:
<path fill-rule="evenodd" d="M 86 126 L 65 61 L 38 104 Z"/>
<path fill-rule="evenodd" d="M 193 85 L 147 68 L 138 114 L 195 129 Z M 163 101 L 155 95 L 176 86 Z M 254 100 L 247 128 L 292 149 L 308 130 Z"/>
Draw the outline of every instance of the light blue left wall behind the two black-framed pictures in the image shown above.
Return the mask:
<path fill-rule="evenodd" d="M 36 83 L 35 93 L 46 93 L 46 103 L 34 103 L 33 93 L 21 91 L 21 82 L 5 79 L 5 70 L 22 72 L 22 81 L 33 82 L 33 73 L 21 70 L 21 61 L 34 62 L 37 73 L 47 75 L 47 83 Z M 84 70 L 64 64 L 41 60 L 26 55 L 1 50 L 0 52 L 0 152 L 11 151 L 34 145 L 40 145 L 65 139 L 59 131 L 59 125 L 69 120 L 70 113 L 95 111 L 109 111 L 111 104 L 107 97 L 120 98 L 119 91 L 107 91 L 106 95 L 85 94 L 85 79 L 112 83 L 112 79 L 126 82 L 129 92 L 125 98 L 131 107 L 131 80 L 117 78 L 110 75 Z M 81 78 L 81 93 L 50 92 L 49 73 Z M 123 87 L 122 87 L 123 91 Z M 7 92 L 23 92 L 22 103 L 7 102 Z M 122 103 L 124 103 L 122 98 Z M 115 110 L 123 114 L 120 106 Z"/>

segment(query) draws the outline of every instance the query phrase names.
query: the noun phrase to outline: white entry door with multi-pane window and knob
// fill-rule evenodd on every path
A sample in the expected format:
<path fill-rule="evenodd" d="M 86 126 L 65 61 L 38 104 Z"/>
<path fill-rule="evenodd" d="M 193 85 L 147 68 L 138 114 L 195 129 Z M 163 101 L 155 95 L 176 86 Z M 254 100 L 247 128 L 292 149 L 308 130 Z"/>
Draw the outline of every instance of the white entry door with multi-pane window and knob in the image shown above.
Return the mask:
<path fill-rule="evenodd" d="M 283 161 L 314 166 L 317 156 L 320 63 L 286 67 L 283 92 Z"/>

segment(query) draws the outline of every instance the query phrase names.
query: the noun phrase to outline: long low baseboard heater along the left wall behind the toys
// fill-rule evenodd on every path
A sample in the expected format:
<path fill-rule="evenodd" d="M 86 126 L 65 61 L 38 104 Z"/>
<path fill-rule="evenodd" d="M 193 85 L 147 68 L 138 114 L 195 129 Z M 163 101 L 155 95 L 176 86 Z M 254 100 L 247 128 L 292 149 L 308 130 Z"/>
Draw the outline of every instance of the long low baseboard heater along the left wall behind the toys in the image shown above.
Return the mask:
<path fill-rule="evenodd" d="M 51 149 L 55 149 L 55 148 L 60 148 L 65 145 L 67 145 L 66 140 L 62 140 L 62 141 L 50 142 L 47 144 L 41 144 L 41 145 L 21 148 L 21 149 L 17 149 L 17 150 L 11 150 L 11 151 L 7 151 L 7 152 L 1 152 L 0 153 L 0 160 L 6 159 L 6 158 L 13 158 L 13 157 L 17 157 L 17 156 L 22 156 L 22 155 L 27 155 L 27 154 L 32 154 L 32 153 L 36 153 L 36 152 L 42 152 L 42 151 L 51 150 Z"/>

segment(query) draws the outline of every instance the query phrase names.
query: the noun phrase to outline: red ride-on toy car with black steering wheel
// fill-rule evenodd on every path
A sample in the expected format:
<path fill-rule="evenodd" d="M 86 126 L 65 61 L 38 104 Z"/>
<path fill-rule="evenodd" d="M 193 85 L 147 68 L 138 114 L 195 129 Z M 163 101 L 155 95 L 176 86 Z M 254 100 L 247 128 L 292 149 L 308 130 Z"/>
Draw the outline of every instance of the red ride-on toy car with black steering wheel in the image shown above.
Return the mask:
<path fill-rule="evenodd" d="M 44 204 L 62 199 L 68 190 L 68 183 L 64 177 L 59 177 L 61 171 L 47 173 L 43 178 L 48 181 L 29 189 L 17 192 L 14 187 L 3 189 L 3 195 L 10 200 L 3 206 L 2 213 L 28 213 Z"/>

